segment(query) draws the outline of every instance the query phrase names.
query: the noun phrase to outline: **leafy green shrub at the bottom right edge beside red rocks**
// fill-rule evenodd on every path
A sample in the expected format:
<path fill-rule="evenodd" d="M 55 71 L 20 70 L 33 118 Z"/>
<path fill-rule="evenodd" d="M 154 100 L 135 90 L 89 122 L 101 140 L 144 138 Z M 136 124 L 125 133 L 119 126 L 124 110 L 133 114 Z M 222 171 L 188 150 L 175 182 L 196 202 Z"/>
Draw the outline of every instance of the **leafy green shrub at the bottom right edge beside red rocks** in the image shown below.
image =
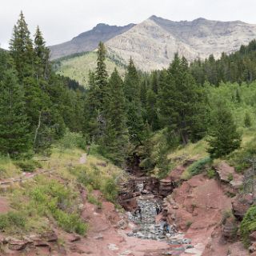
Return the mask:
<path fill-rule="evenodd" d="M 247 210 L 245 217 L 242 219 L 241 226 L 242 242 L 245 246 L 250 246 L 249 235 L 256 230 L 256 206 L 251 206 Z"/>

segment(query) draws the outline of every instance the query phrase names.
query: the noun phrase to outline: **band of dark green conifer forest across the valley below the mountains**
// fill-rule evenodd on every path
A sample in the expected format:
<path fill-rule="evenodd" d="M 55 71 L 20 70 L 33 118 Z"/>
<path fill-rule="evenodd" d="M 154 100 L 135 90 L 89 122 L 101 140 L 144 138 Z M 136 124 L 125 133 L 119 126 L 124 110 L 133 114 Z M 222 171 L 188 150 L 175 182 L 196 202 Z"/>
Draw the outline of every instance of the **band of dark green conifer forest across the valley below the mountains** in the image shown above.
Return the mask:
<path fill-rule="evenodd" d="M 117 70 L 107 74 L 106 48 L 100 42 L 97 69 L 91 70 L 85 89 L 54 74 L 42 31 L 38 27 L 31 36 L 21 13 L 10 50 L 0 55 L 1 154 L 50 154 L 50 146 L 67 130 L 82 134 L 86 145 L 97 145 L 100 154 L 119 166 L 138 148 L 147 154 L 150 138 L 160 130 L 167 147 L 207 137 L 213 158 L 230 154 L 239 147 L 242 134 L 232 107 L 222 97 L 213 101 L 212 94 L 226 88 L 230 102 L 243 102 L 251 112 L 253 98 L 242 97 L 242 88 L 255 91 L 255 50 L 253 41 L 218 60 L 211 55 L 192 63 L 176 54 L 168 69 L 150 73 L 137 70 L 130 58 L 122 78 Z M 249 112 L 242 117 L 247 125 Z"/>

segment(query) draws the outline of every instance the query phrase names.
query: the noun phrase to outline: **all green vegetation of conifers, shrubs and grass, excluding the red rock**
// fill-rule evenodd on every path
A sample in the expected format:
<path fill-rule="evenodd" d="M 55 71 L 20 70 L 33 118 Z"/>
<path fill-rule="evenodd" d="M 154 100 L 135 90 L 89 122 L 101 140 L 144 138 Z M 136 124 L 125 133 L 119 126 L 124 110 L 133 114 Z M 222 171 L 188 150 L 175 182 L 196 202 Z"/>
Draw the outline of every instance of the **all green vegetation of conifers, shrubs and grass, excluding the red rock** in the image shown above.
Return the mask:
<path fill-rule="evenodd" d="M 85 90 L 54 73 L 41 31 L 32 41 L 21 14 L 10 52 L 0 53 L 0 174 L 15 178 L 40 167 L 49 173 L 3 187 L 10 210 L 0 215 L 1 234 L 49 229 L 86 234 L 82 204 L 102 207 L 94 190 L 116 204 L 117 182 L 126 178 L 121 168 L 171 178 L 182 166 L 175 186 L 187 180 L 184 186 L 193 187 L 198 174 L 209 179 L 218 174 L 228 184 L 241 178 L 250 168 L 244 159 L 255 154 L 254 44 L 218 61 L 189 64 L 175 54 L 167 69 L 146 74 L 130 58 L 122 79 L 117 69 L 107 70 L 100 42 Z M 86 56 L 91 54 L 76 58 Z M 223 175 L 224 167 L 218 170 L 223 162 L 230 175 Z M 245 241 L 255 230 L 250 213 L 254 208 L 242 223 Z"/>

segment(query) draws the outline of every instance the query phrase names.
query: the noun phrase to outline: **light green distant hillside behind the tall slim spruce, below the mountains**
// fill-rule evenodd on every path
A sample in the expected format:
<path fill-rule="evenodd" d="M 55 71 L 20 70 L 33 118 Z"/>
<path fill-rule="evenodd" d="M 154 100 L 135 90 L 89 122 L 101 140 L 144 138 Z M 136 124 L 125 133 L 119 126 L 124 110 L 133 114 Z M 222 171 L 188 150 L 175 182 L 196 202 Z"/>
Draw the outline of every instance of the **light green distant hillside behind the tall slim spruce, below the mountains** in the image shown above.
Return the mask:
<path fill-rule="evenodd" d="M 125 74 L 125 66 L 122 65 L 122 60 L 112 54 L 108 54 L 106 58 L 106 70 L 108 74 L 117 68 L 119 74 Z M 62 74 L 66 77 L 74 79 L 82 86 L 87 86 L 89 72 L 94 71 L 97 65 L 97 53 L 87 52 L 83 54 L 74 54 L 73 56 L 60 58 L 54 61 L 54 69 L 57 74 Z"/>

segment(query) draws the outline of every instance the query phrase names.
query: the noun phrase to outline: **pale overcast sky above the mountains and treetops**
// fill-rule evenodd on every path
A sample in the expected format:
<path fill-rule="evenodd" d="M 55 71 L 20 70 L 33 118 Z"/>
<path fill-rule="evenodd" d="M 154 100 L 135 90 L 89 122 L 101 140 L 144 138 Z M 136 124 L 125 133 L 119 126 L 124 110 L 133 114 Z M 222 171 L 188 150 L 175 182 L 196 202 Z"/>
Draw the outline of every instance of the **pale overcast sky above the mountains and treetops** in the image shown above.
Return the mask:
<path fill-rule="evenodd" d="M 0 44 L 8 48 L 22 10 L 30 31 L 39 25 L 47 45 L 65 42 L 97 23 L 126 25 L 155 14 L 173 21 L 208 18 L 256 24 L 256 0 L 0 0 Z"/>

